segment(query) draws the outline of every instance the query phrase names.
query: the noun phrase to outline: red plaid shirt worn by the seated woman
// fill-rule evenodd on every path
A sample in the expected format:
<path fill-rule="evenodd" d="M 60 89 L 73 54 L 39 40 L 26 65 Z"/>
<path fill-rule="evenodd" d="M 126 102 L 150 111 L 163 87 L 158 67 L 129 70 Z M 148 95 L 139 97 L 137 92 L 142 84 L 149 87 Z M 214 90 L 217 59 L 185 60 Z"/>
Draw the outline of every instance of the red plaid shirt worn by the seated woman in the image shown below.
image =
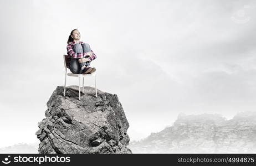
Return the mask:
<path fill-rule="evenodd" d="M 79 42 L 79 43 L 83 44 L 84 42 Z M 66 50 L 68 51 L 67 52 L 68 56 L 71 56 L 72 58 L 76 58 L 76 59 L 88 58 L 89 61 L 96 59 L 96 55 L 94 54 L 93 50 L 91 50 L 92 55 L 89 56 L 86 53 L 75 53 L 75 51 L 73 50 L 74 46 L 75 46 L 75 41 L 69 42 L 69 44 L 66 46 Z"/>

